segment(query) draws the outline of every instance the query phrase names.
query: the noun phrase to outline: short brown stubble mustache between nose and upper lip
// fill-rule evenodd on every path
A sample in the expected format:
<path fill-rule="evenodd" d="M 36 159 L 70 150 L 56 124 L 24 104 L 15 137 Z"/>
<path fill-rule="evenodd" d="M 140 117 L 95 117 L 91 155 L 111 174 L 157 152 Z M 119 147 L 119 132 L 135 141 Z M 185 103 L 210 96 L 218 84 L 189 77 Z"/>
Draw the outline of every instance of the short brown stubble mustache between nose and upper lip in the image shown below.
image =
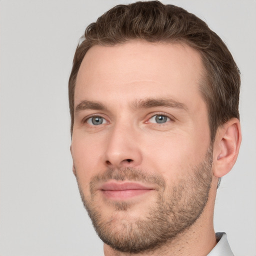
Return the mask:
<path fill-rule="evenodd" d="M 94 187 L 99 182 L 106 182 L 109 179 L 116 181 L 139 181 L 147 184 L 156 184 L 161 188 L 165 188 L 166 182 L 163 176 L 159 174 L 150 174 L 142 171 L 141 169 L 125 167 L 125 168 L 108 168 L 103 173 L 97 174 L 92 177 L 89 186 L 90 192 L 93 193 Z"/>

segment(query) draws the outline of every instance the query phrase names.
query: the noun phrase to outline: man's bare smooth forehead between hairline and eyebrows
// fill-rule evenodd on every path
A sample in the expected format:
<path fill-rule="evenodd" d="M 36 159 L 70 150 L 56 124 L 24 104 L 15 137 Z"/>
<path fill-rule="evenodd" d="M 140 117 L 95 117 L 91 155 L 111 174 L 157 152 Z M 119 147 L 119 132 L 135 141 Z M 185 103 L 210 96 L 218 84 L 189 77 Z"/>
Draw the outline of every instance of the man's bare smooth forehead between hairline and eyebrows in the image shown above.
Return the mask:
<path fill-rule="evenodd" d="M 203 70 L 200 54 L 183 43 L 132 40 L 114 46 L 94 45 L 79 68 L 74 101 L 77 104 L 82 97 L 106 100 L 109 93 L 123 100 L 149 93 L 189 100 L 199 95 Z"/>

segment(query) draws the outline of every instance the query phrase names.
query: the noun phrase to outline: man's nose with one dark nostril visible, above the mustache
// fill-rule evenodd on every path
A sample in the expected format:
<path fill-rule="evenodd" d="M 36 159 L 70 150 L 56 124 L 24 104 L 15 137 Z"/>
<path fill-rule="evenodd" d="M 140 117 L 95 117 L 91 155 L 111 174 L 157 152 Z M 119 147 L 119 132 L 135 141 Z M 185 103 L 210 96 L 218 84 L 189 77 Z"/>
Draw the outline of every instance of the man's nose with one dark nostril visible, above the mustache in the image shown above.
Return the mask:
<path fill-rule="evenodd" d="M 139 132 L 132 125 L 116 123 L 108 134 L 105 164 L 110 168 L 135 167 L 142 161 Z"/>

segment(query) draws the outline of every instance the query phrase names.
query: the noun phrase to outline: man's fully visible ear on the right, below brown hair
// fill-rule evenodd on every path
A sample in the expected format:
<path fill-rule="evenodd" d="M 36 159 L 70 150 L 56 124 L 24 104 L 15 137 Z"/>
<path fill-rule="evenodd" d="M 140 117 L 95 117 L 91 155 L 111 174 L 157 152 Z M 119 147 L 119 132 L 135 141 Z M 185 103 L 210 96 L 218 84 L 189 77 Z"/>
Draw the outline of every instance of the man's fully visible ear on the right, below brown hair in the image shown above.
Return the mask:
<path fill-rule="evenodd" d="M 241 143 L 241 127 L 237 118 L 219 126 L 214 140 L 213 175 L 222 177 L 233 167 Z"/>

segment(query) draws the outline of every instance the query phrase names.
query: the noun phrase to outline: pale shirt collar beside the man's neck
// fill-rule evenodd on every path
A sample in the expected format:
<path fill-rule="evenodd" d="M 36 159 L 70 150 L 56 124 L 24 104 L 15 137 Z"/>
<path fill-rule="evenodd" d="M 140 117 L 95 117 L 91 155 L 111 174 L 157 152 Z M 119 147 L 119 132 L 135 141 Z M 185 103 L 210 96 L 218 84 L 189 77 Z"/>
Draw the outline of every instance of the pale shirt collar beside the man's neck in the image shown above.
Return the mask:
<path fill-rule="evenodd" d="M 228 244 L 226 233 L 216 233 L 218 243 L 207 256 L 234 256 Z"/>

